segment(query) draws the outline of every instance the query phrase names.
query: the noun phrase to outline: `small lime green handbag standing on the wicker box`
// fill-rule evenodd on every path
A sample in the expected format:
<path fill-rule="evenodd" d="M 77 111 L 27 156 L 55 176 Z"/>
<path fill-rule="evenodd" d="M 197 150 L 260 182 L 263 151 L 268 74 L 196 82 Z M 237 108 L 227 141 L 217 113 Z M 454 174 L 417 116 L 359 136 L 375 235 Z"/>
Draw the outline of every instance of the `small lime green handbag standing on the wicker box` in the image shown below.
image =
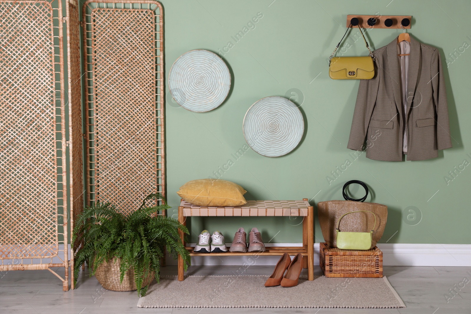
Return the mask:
<path fill-rule="evenodd" d="M 358 210 L 358 211 L 351 211 L 349 213 L 343 214 L 340 217 L 339 222 L 337 223 L 337 248 L 341 250 L 370 250 L 371 249 L 371 241 L 373 238 L 373 231 L 374 227 L 376 226 L 376 215 L 374 215 L 374 226 L 373 230 L 370 232 L 341 232 L 340 231 L 340 221 L 345 215 L 359 213 L 359 212 L 367 212 L 372 213 L 374 212 L 369 210 Z"/>

